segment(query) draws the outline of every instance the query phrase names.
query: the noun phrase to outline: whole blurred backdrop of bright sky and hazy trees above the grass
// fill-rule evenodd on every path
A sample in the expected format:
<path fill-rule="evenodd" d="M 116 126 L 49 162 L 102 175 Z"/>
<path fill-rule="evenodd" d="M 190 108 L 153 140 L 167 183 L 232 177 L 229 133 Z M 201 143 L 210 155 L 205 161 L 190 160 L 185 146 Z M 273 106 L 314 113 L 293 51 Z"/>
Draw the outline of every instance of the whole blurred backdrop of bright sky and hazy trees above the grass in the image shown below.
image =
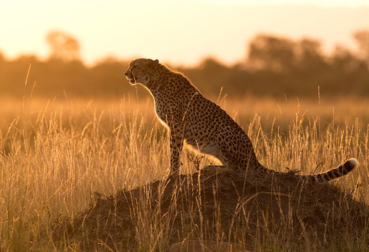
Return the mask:
<path fill-rule="evenodd" d="M 157 58 L 206 96 L 369 96 L 369 2 L 8 1 L 0 9 L 0 97 L 119 98 Z M 30 68 L 31 66 L 31 68 Z M 26 76 L 30 68 L 27 85 Z"/>

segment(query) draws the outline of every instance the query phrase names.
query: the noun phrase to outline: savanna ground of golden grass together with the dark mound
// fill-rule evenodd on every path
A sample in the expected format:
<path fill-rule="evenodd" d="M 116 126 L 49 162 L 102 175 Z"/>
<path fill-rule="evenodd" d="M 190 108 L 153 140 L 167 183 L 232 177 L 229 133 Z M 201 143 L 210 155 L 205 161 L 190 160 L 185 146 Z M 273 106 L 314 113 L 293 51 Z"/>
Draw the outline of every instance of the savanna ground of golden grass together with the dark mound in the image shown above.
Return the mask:
<path fill-rule="evenodd" d="M 162 251 L 210 240 L 256 251 L 369 251 L 369 101 L 231 96 L 218 103 L 260 162 L 284 175 L 202 175 L 185 149 L 181 175 L 163 179 L 169 139 L 149 96 L 2 97 L 1 250 Z M 337 181 L 294 176 L 350 157 L 358 169 Z"/>

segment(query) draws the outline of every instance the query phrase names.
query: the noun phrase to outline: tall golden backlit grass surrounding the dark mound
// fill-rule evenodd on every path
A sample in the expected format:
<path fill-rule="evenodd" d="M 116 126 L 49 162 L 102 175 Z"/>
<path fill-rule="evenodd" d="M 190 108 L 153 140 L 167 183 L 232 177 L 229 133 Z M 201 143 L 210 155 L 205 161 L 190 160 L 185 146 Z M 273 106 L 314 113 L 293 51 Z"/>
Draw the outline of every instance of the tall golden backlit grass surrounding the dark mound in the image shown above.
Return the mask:
<path fill-rule="evenodd" d="M 84 211 L 96 197 L 95 192 L 102 194 L 99 197 L 104 199 L 104 195 L 115 195 L 152 180 L 161 180 L 169 172 L 167 130 L 156 120 L 151 98 L 139 97 L 139 100 L 128 96 L 121 100 L 100 101 L 31 97 L 22 103 L 21 99 L 2 98 L 2 250 L 80 250 L 78 239 L 67 236 L 55 239 L 55 225 Z M 354 199 L 369 203 L 369 106 L 363 101 L 350 99 L 336 103 L 321 99 L 319 104 L 318 100 L 249 98 L 237 103 L 230 100 L 220 99 L 219 103 L 241 123 L 263 165 L 277 171 L 289 167 L 310 174 L 328 170 L 355 157 L 360 162 L 358 169 L 332 183 Z M 180 171 L 181 174 L 193 174 L 196 169 L 186 158 L 186 153 L 184 150 Z M 201 165 L 208 162 L 209 159 L 204 158 Z M 168 230 L 174 219 L 170 215 L 158 215 L 155 212 L 158 209 L 142 207 L 145 204 L 145 201 L 137 202 L 131 212 L 131 218 L 138 224 L 135 233 L 129 237 L 131 240 L 127 240 L 131 242 L 128 247 L 163 250 L 173 237 L 177 237 L 175 232 L 161 232 Z M 193 204 L 195 207 L 202 203 Z M 171 208 L 170 213 L 175 214 L 175 211 Z M 367 219 L 367 213 L 363 214 Z M 160 218 L 168 221 L 162 222 Z M 186 215 L 186 218 L 201 216 Z M 220 221 L 221 217 L 217 218 Z M 142 223 L 151 223 L 151 226 L 142 226 Z M 157 226 L 158 223 L 167 226 Z M 328 228 L 331 223 L 326 225 Z M 291 226 L 286 224 L 284 232 L 282 229 L 277 235 L 269 230 L 258 233 L 255 240 L 264 241 L 264 244 L 257 245 L 288 249 L 284 246 L 288 244 L 289 228 Z M 194 230 L 200 235 L 191 233 Z M 201 226 L 188 226 L 188 237 L 205 239 L 206 230 Z M 244 230 L 239 227 L 238 231 L 240 233 L 234 237 L 239 239 L 235 240 L 242 242 Z M 352 251 L 365 248 L 365 235 L 354 235 L 355 238 L 349 235 L 345 248 Z M 361 243 L 357 237 L 362 239 Z M 281 244 L 274 244 L 277 238 L 281 239 Z M 305 239 L 314 241 L 309 240 L 311 237 Z M 228 241 L 224 237 L 219 240 Z M 91 241 L 91 244 L 95 243 Z M 320 245 L 315 244 L 307 250 L 317 250 Z M 104 247 L 104 244 L 100 246 Z"/>

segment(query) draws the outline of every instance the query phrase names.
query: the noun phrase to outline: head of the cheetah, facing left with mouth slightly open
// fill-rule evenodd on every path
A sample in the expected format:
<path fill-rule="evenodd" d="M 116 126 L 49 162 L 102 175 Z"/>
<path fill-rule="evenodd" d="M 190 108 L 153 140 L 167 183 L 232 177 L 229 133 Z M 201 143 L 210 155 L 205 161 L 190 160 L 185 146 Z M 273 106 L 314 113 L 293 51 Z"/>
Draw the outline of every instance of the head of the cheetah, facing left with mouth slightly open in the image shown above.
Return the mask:
<path fill-rule="evenodd" d="M 154 70 L 157 68 L 158 65 L 159 60 L 157 59 L 135 59 L 130 63 L 129 68 L 125 72 L 125 75 L 132 85 L 136 85 L 136 83 L 141 83 L 142 85 L 147 86 L 151 80 L 151 76 Z"/>

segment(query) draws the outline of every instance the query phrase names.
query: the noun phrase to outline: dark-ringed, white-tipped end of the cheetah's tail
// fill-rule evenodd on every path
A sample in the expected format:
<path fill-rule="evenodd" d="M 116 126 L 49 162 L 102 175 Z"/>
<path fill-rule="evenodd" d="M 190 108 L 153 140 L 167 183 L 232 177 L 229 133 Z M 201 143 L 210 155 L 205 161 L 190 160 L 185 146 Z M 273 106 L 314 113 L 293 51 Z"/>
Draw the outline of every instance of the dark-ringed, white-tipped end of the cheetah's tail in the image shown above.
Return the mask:
<path fill-rule="evenodd" d="M 301 175 L 304 179 L 315 181 L 315 182 L 328 182 L 336 178 L 342 177 L 347 173 L 354 170 L 354 168 L 359 164 L 355 158 L 350 158 L 343 164 L 339 165 L 332 170 L 324 173 L 312 174 L 312 175 Z"/>

